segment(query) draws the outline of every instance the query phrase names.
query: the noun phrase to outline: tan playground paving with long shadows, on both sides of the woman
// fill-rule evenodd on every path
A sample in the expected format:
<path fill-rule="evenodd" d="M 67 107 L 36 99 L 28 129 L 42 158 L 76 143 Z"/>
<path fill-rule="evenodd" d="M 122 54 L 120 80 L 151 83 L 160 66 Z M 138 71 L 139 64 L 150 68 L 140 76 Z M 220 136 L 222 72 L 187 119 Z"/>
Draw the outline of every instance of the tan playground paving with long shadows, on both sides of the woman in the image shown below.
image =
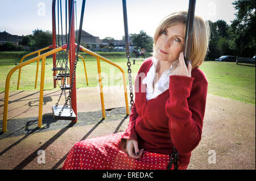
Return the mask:
<path fill-rule="evenodd" d="M 43 125 L 37 128 L 39 91 L 10 92 L 8 131 L 0 134 L 0 169 L 61 169 L 77 141 L 127 128 L 122 86 L 104 87 L 106 119 L 98 87 L 77 89 L 75 125 L 53 119 L 52 106 L 59 94 L 56 89 L 44 91 Z M 1 92 L 1 129 L 3 100 Z M 38 163 L 39 150 L 46 155 L 44 164 Z M 208 94 L 202 138 L 188 169 L 255 170 L 255 106 Z"/>

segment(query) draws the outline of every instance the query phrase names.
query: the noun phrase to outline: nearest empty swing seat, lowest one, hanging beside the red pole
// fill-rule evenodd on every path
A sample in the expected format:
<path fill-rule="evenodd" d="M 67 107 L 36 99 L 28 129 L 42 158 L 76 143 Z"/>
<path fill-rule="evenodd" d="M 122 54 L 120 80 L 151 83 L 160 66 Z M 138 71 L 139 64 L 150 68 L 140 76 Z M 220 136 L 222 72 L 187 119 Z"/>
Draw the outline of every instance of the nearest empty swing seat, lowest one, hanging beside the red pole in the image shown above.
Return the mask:
<path fill-rule="evenodd" d="M 53 118 L 56 120 L 75 120 L 76 114 L 73 111 L 72 115 L 70 113 L 70 107 L 65 107 L 61 115 L 59 115 L 59 112 L 63 106 L 52 106 L 52 112 L 53 112 Z"/>

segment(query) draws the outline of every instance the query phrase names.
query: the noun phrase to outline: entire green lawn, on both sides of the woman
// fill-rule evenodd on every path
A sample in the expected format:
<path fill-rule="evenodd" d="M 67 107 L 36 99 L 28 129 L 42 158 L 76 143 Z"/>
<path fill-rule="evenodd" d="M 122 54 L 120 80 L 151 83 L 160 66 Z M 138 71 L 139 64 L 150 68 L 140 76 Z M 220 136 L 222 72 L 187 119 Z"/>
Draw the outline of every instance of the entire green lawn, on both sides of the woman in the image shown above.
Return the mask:
<path fill-rule="evenodd" d="M 128 85 L 128 74 L 127 74 L 127 59 L 126 58 L 108 58 L 115 62 L 126 73 L 126 82 Z M 19 63 L 17 59 L 0 59 L 0 92 L 5 91 L 6 75 L 9 71 L 14 68 L 15 63 Z M 89 86 L 98 86 L 98 71 L 96 58 L 89 57 L 85 58 L 86 71 L 88 75 Z M 52 78 L 52 58 L 47 59 L 46 75 L 44 81 L 44 90 L 53 89 L 53 78 Z M 134 78 L 141 66 L 142 61 L 137 61 L 133 65 L 131 60 L 131 70 Z M 40 64 L 41 65 L 41 64 Z M 40 87 L 40 67 L 38 74 L 37 89 Z M 235 62 L 215 62 L 206 61 L 200 67 L 204 71 L 208 79 L 208 93 L 241 102 L 246 102 L 255 105 L 255 65 L 247 66 L 236 65 Z M 101 61 L 101 71 L 104 86 L 122 85 L 122 75 L 119 69 L 114 66 Z M 34 90 L 36 75 L 36 62 L 27 65 L 22 68 L 22 74 L 20 78 L 20 89 L 19 90 Z M 11 77 L 10 91 L 16 90 L 18 81 L 18 70 L 16 70 Z M 76 71 L 77 88 L 86 87 L 86 79 L 84 73 L 84 65 L 82 60 L 77 64 Z M 128 88 L 128 87 L 127 87 Z M 58 89 L 58 88 L 56 88 Z M 128 89 L 129 90 L 129 89 Z"/>

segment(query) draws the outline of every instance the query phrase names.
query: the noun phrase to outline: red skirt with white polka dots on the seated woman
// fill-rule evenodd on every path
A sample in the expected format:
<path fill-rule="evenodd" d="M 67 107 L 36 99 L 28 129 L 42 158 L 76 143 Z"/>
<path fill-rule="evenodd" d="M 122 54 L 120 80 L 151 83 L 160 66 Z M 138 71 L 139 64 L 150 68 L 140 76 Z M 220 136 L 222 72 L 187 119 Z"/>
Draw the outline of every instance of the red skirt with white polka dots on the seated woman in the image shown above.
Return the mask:
<path fill-rule="evenodd" d="M 140 159 L 129 157 L 121 149 L 122 133 L 77 142 L 64 162 L 65 170 L 166 170 L 170 155 L 144 150 Z M 174 169 L 172 165 L 171 170 Z M 179 170 L 187 165 L 179 163 Z"/>

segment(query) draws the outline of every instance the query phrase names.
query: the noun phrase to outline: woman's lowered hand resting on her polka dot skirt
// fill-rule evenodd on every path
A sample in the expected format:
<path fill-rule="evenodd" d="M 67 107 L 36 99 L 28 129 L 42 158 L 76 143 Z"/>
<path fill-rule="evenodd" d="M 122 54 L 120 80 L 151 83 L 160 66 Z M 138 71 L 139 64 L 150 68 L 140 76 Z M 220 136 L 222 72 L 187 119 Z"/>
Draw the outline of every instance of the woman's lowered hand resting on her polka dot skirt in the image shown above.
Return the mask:
<path fill-rule="evenodd" d="M 139 150 L 138 142 L 136 140 L 126 140 L 126 152 L 129 157 L 134 159 L 141 158 L 144 149 Z"/>

